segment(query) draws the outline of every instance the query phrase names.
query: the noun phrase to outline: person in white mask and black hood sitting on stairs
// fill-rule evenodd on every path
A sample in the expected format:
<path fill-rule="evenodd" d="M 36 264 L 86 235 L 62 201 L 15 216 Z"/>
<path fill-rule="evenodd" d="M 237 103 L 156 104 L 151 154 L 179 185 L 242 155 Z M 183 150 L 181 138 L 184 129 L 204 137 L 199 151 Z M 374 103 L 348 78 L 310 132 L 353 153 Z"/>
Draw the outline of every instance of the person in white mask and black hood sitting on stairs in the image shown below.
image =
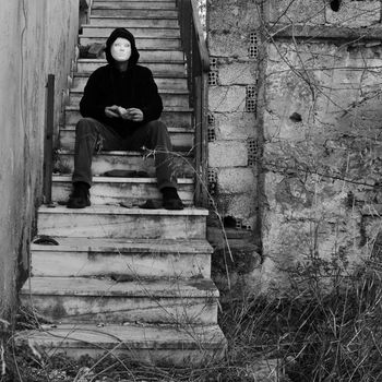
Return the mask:
<path fill-rule="evenodd" d="M 153 150 L 157 186 L 163 206 L 182 210 L 171 168 L 171 142 L 166 126 L 158 121 L 162 98 L 148 68 L 138 64 L 134 36 L 116 28 L 106 41 L 108 64 L 89 76 L 80 102 L 84 117 L 75 128 L 73 190 L 67 206 L 91 205 L 92 158 L 95 148 L 107 151 Z"/>

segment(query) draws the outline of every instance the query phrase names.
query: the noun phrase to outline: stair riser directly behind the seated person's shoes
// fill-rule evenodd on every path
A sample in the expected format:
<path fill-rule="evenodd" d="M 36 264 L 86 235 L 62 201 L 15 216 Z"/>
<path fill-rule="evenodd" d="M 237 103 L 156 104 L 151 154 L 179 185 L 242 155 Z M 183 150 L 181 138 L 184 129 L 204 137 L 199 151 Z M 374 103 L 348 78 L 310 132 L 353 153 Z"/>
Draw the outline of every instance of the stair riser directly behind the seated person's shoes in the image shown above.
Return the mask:
<path fill-rule="evenodd" d="M 72 190 L 71 182 L 53 182 L 52 200 L 55 202 L 68 201 Z M 179 196 L 186 205 L 192 205 L 193 184 L 181 184 Z M 94 183 L 91 189 L 92 204 L 119 204 L 133 203 L 141 204 L 147 199 L 162 201 L 162 193 L 155 183 Z"/>

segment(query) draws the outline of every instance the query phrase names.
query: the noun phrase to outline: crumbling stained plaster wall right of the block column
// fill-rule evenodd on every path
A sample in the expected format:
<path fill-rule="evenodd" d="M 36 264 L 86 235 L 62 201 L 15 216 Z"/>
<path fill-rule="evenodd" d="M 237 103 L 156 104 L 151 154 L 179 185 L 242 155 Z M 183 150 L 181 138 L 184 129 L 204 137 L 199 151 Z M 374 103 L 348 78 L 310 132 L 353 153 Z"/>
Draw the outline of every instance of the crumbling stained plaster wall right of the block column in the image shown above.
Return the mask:
<path fill-rule="evenodd" d="M 329 1 L 283 0 L 268 11 L 264 290 L 300 261 L 348 270 L 369 258 L 380 220 L 366 215 L 381 201 L 382 176 L 381 2 L 333 11 Z"/>

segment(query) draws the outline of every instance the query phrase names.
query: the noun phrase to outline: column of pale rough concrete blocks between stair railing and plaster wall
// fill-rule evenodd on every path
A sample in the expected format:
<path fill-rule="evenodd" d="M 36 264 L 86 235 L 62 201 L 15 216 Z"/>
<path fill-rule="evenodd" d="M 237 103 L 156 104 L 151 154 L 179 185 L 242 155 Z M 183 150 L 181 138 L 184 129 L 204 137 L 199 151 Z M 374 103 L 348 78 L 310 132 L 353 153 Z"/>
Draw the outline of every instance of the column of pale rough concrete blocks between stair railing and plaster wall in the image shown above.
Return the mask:
<path fill-rule="evenodd" d="M 259 12 L 254 1 L 207 2 L 212 59 L 208 167 L 216 181 L 213 198 L 222 217 L 232 217 L 239 228 L 249 230 L 255 230 L 258 194 L 258 169 L 249 147 L 253 148 L 258 132 L 255 99 L 251 109 L 247 99 L 248 87 L 253 91 L 258 79 Z"/>

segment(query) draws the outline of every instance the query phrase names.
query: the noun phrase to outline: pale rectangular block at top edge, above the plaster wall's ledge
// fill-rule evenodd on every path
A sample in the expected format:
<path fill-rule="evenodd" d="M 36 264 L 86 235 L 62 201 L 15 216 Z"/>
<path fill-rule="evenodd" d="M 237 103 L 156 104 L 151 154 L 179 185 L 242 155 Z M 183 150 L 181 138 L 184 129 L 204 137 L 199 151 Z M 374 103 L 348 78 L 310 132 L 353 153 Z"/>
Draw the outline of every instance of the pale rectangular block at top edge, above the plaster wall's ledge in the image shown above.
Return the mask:
<path fill-rule="evenodd" d="M 325 23 L 325 7 L 322 0 L 272 0 L 270 20 L 273 23 Z"/>

